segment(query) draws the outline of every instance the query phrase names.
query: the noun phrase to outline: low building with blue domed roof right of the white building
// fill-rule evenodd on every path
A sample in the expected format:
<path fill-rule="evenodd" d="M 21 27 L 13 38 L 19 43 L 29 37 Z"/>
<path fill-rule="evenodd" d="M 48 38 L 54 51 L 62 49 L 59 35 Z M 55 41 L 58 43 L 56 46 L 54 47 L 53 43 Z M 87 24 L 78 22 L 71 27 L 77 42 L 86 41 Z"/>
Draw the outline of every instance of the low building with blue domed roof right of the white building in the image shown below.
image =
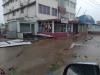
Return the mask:
<path fill-rule="evenodd" d="M 86 39 L 88 32 L 100 29 L 100 26 L 98 26 L 98 29 L 94 28 L 95 20 L 90 15 L 81 15 L 76 20 L 69 21 L 69 24 L 71 33 L 73 33 L 73 36 L 79 37 L 79 39 Z"/>

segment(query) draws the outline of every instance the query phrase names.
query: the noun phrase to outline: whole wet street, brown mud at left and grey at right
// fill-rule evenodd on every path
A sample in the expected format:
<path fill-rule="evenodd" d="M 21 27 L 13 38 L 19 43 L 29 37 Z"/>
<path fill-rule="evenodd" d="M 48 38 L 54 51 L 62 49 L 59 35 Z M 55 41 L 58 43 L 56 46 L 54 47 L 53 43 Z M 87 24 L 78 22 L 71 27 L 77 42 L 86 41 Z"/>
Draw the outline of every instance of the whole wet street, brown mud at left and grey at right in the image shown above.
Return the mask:
<path fill-rule="evenodd" d="M 37 75 L 38 70 L 41 71 L 38 75 L 43 75 L 42 73 L 46 73 L 48 65 L 54 63 L 52 61 L 56 61 L 54 57 L 59 58 L 58 63 L 61 63 L 62 58 L 66 62 L 93 61 L 100 63 L 100 36 L 75 42 L 76 45 L 73 49 L 64 51 L 66 56 L 62 56 L 61 53 L 56 56 L 57 52 L 62 52 L 67 47 L 68 41 L 61 41 L 47 40 L 48 43 L 41 41 L 28 46 L 0 48 L 0 67 L 9 69 L 13 66 L 20 73 L 19 75 L 23 73 L 32 75 L 33 71 Z"/>

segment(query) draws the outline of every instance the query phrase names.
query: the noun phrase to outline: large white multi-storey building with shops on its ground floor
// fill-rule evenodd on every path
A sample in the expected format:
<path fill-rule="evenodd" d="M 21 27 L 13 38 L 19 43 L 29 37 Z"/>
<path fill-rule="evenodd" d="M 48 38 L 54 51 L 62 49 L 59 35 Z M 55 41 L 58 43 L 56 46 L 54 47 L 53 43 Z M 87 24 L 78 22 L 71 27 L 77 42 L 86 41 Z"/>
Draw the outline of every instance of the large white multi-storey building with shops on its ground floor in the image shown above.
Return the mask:
<path fill-rule="evenodd" d="M 3 7 L 5 23 L 16 22 L 10 32 L 65 32 L 75 18 L 76 0 L 3 0 Z"/>

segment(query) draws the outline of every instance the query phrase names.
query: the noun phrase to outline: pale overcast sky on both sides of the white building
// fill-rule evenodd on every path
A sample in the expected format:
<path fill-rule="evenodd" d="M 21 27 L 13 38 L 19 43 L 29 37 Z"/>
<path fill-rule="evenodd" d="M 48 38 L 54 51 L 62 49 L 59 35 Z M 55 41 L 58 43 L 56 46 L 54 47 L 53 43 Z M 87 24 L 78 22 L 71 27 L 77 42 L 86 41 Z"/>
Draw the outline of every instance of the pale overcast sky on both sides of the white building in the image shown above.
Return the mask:
<path fill-rule="evenodd" d="M 76 16 L 83 14 L 91 15 L 95 20 L 100 20 L 100 0 L 77 0 Z M 3 21 L 2 0 L 0 0 L 0 23 Z"/>

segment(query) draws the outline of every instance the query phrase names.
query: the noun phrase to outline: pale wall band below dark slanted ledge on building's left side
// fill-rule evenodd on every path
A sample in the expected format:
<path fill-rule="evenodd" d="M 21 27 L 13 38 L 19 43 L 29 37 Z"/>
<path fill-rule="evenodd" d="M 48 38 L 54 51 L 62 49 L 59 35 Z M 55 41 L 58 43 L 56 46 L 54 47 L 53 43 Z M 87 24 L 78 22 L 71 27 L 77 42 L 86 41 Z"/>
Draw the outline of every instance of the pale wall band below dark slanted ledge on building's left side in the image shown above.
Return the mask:
<path fill-rule="evenodd" d="M 21 13 L 21 11 L 17 11 L 15 13 L 15 16 L 13 16 L 13 14 L 10 13 L 7 16 L 4 16 L 5 22 L 7 22 L 7 20 L 12 20 L 12 19 L 17 19 L 17 18 L 27 19 L 27 17 L 34 17 L 36 15 L 35 8 L 36 8 L 36 6 L 32 5 L 31 7 L 25 8 L 24 13 Z M 32 19 L 32 18 L 30 18 L 30 19 Z"/>

